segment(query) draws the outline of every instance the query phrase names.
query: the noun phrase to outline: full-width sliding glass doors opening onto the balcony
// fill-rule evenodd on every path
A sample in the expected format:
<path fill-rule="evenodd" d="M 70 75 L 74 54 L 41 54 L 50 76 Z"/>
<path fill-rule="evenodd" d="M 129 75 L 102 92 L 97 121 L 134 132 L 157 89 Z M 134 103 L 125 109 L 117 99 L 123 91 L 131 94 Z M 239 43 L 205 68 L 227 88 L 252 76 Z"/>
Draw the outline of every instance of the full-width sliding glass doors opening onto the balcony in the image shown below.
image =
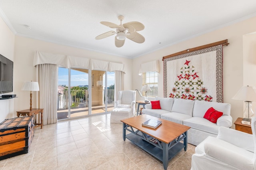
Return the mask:
<path fill-rule="evenodd" d="M 58 120 L 114 109 L 114 72 L 59 67 Z"/>

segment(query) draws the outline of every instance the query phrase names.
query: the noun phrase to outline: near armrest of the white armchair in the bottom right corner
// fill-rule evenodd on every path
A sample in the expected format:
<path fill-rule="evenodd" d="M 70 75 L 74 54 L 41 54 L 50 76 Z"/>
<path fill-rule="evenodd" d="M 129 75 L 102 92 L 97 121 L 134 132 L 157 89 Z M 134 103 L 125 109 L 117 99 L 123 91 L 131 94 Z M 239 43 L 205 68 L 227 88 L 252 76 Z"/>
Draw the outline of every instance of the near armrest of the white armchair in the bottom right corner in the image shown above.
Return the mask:
<path fill-rule="evenodd" d="M 206 142 L 205 153 L 238 169 L 253 169 L 253 153 L 222 140 Z"/>

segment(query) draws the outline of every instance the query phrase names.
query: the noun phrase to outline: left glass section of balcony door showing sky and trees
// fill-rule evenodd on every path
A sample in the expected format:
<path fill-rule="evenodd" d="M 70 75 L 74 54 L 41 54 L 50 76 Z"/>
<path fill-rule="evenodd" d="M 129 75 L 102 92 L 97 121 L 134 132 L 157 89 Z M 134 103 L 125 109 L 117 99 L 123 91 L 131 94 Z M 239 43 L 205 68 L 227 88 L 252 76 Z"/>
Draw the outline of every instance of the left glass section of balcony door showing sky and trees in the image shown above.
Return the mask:
<path fill-rule="evenodd" d="M 88 69 L 58 70 L 58 120 L 88 115 Z"/>

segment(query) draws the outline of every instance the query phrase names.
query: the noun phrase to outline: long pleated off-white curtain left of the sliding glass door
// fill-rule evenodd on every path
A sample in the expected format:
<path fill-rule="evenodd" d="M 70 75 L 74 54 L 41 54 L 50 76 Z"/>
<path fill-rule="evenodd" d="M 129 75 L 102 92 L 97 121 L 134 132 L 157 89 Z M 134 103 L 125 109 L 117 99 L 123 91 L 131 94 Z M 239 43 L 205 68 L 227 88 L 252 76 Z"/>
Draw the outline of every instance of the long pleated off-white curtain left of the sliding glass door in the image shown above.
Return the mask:
<path fill-rule="evenodd" d="M 44 109 L 43 124 L 57 123 L 58 65 L 36 65 L 39 93 L 37 108 Z"/>

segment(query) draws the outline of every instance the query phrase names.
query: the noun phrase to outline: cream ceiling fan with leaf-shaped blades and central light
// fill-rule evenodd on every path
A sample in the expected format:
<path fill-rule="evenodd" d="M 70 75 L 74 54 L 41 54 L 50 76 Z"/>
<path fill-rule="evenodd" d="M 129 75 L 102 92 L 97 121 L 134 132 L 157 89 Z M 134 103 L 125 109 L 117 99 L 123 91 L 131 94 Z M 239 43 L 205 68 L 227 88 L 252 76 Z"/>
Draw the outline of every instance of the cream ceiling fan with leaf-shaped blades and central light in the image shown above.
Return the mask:
<path fill-rule="evenodd" d="M 118 16 L 118 20 L 120 20 L 120 25 L 114 24 L 112 22 L 100 22 L 100 24 L 103 24 L 104 26 L 115 28 L 116 32 L 114 31 L 105 32 L 95 37 L 95 39 L 100 40 L 102 38 L 106 38 L 116 34 L 115 36 L 116 47 L 122 47 L 124 45 L 126 38 L 136 43 L 145 42 L 145 38 L 137 32 L 137 31 L 144 30 L 145 26 L 142 23 L 133 21 L 133 22 L 127 22 L 125 24 L 122 24 L 122 20 L 124 20 L 124 16 Z"/>

